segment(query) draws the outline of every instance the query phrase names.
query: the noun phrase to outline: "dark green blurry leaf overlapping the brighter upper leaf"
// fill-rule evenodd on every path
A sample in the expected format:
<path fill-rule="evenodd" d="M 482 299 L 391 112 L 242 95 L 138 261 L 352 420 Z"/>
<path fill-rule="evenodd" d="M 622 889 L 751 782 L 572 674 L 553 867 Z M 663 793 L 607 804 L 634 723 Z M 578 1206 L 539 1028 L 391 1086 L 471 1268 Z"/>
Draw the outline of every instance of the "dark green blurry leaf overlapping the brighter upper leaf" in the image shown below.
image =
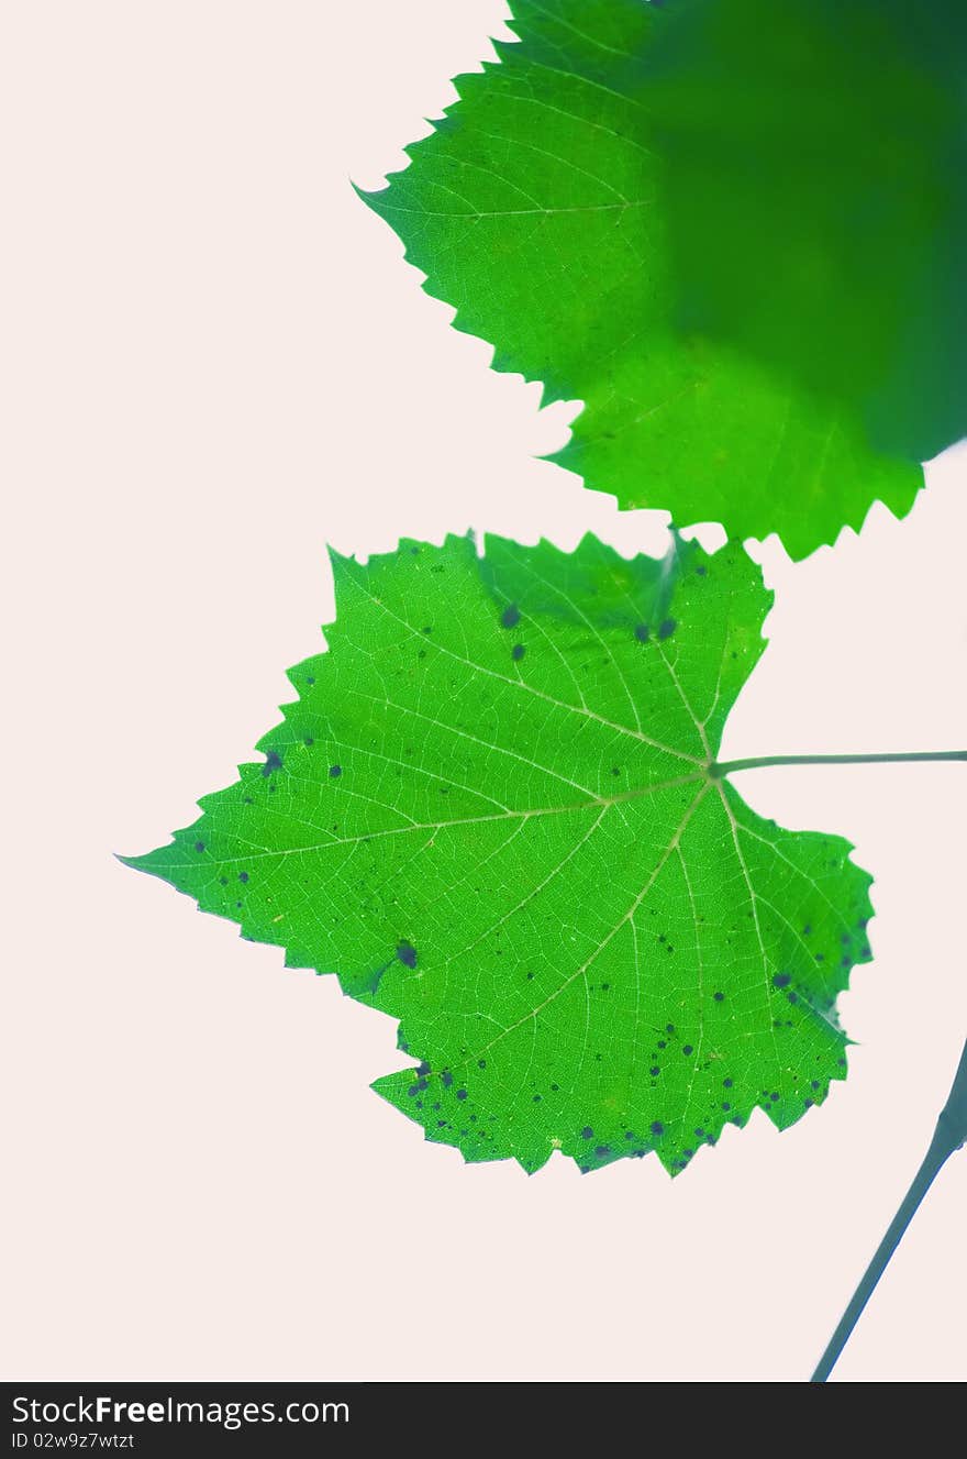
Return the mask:
<path fill-rule="evenodd" d="M 843 401 L 879 449 L 960 439 L 963 0 L 675 0 L 648 66 L 691 325 Z"/>

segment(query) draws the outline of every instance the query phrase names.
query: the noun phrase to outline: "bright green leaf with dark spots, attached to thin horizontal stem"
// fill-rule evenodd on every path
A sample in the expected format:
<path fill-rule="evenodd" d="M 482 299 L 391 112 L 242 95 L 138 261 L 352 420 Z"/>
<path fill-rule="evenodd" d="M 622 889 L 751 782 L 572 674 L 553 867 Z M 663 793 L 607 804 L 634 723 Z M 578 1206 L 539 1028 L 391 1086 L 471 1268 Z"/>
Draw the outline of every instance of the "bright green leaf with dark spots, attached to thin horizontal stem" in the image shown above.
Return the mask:
<path fill-rule="evenodd" d="M 264 760 L 128 864 L 398 1020 L 420 1064 L 375 1088 L 467 1160 L 678 1172 L 821 1103 L 871 878 L 715 766 L 772 601 L 741 549 L 448 538 L 333 570 Z"/>

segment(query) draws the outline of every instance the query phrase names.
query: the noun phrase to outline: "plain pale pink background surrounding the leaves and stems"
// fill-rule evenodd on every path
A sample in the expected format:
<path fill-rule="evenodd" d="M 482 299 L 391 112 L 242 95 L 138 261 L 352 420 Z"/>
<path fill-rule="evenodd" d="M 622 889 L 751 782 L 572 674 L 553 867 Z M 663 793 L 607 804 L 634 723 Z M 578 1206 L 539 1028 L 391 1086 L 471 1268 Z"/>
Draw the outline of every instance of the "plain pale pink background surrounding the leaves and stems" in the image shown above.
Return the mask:
<path fill-rule="evenodd" d="M 827 1106 L 674 1183 L 467 1167 L 368 1084 L 394 1026 L 112 852 L 233 779 L 331 616 L 324 556 L 468 525 L 661 544 L 534 460 L 573 407 L 487 372 L 353 196 L 487 55 L 499 0 L 0 12 L 3 1374 L 805 1377 L 967 1027 L 960 766 L 747 775 L 877 875 Z M 729 756 L 967 743 L 967 452 L 791 566 Z M 843 1380 L 967 1376 L 967 1157 Z"/>

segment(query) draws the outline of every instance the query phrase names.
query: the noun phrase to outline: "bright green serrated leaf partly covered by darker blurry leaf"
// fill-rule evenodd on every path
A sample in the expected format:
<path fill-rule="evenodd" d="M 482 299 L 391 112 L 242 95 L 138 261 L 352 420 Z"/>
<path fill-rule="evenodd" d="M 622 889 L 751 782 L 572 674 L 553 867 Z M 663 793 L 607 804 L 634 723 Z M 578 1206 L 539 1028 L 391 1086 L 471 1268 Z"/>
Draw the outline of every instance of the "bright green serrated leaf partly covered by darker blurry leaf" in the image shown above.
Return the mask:
<path fill-rule="evenodd" d="M 643 0 L 512 10 L 519 41 L 458 77 L 408 166 L 360 196 L 494 368 L 583 401 L 553 460 L 624 508 L 776 531 L 793 557 L 875 499 L 906 512 L 919 464 L 875 451 L 849 403 L 680 327 L 645 67 L 668 16 Z"/>

